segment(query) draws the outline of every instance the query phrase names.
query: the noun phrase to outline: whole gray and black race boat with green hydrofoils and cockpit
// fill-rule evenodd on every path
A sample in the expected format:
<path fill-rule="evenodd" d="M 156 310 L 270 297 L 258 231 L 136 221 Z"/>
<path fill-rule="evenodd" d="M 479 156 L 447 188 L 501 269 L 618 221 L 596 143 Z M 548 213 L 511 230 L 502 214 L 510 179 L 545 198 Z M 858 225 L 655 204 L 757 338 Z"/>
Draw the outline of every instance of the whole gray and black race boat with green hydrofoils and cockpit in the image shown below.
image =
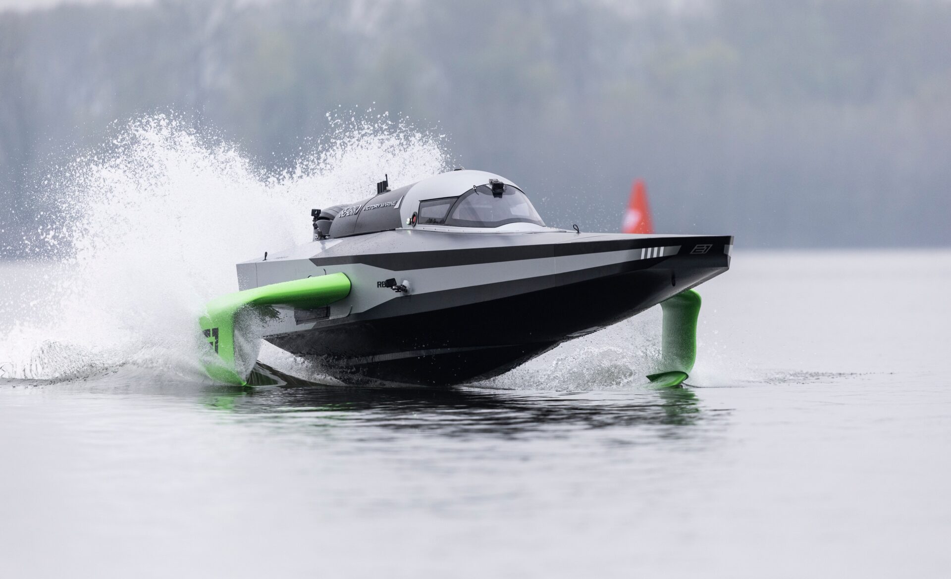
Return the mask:
<path fill-rule="evenodd" d="M 648 377 L 677 385 L 695 354 L 692 288 L 727 271 L 733 242 L 547 227 L 515 183 L 461 169 L 311 213 L 313 241 L 239 263 L 241 291 L 208 303 L 209 376 L 280 383 L 256 363 L 263 338 L 344 382 L 453 385 L 660 303 Z"/>

